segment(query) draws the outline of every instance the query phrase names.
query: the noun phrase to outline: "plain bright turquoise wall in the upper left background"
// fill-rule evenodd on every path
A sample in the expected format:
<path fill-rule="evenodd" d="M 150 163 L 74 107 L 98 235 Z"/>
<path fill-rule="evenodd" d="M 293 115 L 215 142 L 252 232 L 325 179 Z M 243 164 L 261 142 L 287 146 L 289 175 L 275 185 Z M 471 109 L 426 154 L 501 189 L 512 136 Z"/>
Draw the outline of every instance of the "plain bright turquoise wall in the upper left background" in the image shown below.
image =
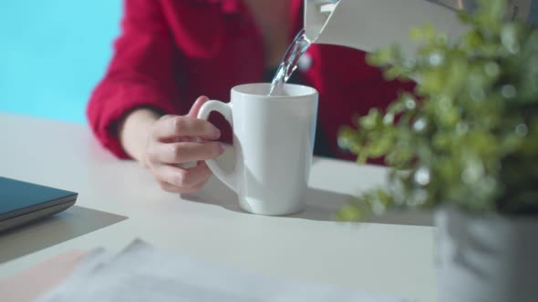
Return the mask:
<path fill-rule="evenodd" d="M 86 123 L 120 16 L 120 0 L 2 0 L 0 112 Z"/>

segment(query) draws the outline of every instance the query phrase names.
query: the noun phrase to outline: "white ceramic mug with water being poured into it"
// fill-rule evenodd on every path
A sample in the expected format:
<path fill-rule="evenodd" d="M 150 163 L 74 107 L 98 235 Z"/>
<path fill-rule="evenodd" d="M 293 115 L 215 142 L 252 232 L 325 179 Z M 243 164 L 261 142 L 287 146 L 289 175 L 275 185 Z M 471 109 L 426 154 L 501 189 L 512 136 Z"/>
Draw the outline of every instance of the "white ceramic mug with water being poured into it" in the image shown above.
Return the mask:
<path fill-rule="evenodd" d="M 209 101 L 198 118 L 217 111 L 232 125 L 233 172 L 224 172 L 214 160 L 206 162 L 237 193 L 240 206 L 254 214 L 287 215 L 304 205 L 318 95 L 308 86 L 285 85 L 284 96 L 267 96 L 269 86 L 235 86 L 230 103 Z"/>

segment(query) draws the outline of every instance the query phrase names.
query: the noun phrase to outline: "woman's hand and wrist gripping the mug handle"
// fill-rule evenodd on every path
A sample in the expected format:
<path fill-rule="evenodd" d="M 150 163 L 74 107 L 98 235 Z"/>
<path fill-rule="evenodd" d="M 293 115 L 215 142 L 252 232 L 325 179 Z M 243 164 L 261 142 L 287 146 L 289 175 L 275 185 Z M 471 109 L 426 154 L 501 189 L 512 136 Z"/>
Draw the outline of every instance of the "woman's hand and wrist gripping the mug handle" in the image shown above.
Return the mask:
<path fill-rule="evenodd" d="M 219 129 L 206 120 L 196 118 L 207 100 L 205 96 L 199 97 L 187 116 L 159 118 L 153 114 L 150 122 L 147 113 L 143 117 L 144 113 L 135 111 L 124 122 L 121 131 L 124 147 L 150 169 L 165 191 L 192 193 L 200 190 L 212 175 L 203 160 L 220 156 L 224 150 L 221 143 L 214 141 L 221 136 Z M 129 136 L 140 137 L 140 132 L 138 136 L 135 133 L 137 129 L 146 129 L 142 131 L 146 133 L 145 146 L 138 152 L 137 144 L 129 144 Z M 192 162 L 198 164 L 184 167 Z"/>

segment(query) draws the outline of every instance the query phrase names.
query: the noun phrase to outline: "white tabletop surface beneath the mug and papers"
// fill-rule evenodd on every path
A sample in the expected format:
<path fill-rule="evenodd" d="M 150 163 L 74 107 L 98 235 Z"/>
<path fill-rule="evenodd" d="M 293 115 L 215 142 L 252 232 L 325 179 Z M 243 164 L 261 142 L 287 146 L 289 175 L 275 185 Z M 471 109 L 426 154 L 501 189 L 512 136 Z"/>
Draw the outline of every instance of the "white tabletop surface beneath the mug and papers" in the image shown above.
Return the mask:
<path fill-rule="evenodd" d="M 70 249 L 117 250 L 140 237 L 182 255 L 268 276 L 424 302 L 437 294 L 432 227 L 330 219 L 345 195 L 383 183 L 380 167 L 316 158 L 305 212 L 254 216 L 239 211 L 233 195 L 215 180 L 199 196 L 205 202 L 161 191 L 140 165 L 102 149 L 88 126 L 0 114 L 0 175 L 73 190 L 78 206 L 129 217 L 0 264 L 0 279 Z M 56 231 L 33 230 L 45 238 Z M 28 244 L 1 239 L 0 254 L 2 245 Z"/>

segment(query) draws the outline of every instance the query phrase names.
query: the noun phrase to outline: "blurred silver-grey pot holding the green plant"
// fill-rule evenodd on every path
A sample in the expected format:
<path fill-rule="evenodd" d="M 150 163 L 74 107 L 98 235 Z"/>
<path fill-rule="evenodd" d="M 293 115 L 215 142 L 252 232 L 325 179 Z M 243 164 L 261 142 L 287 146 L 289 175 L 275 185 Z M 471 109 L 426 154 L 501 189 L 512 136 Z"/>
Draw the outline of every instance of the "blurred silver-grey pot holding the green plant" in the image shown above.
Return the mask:
<path fill-rule="evenodd" d="M 538 217 L 435 214 L 439 302 L 537 302 Z"/>

